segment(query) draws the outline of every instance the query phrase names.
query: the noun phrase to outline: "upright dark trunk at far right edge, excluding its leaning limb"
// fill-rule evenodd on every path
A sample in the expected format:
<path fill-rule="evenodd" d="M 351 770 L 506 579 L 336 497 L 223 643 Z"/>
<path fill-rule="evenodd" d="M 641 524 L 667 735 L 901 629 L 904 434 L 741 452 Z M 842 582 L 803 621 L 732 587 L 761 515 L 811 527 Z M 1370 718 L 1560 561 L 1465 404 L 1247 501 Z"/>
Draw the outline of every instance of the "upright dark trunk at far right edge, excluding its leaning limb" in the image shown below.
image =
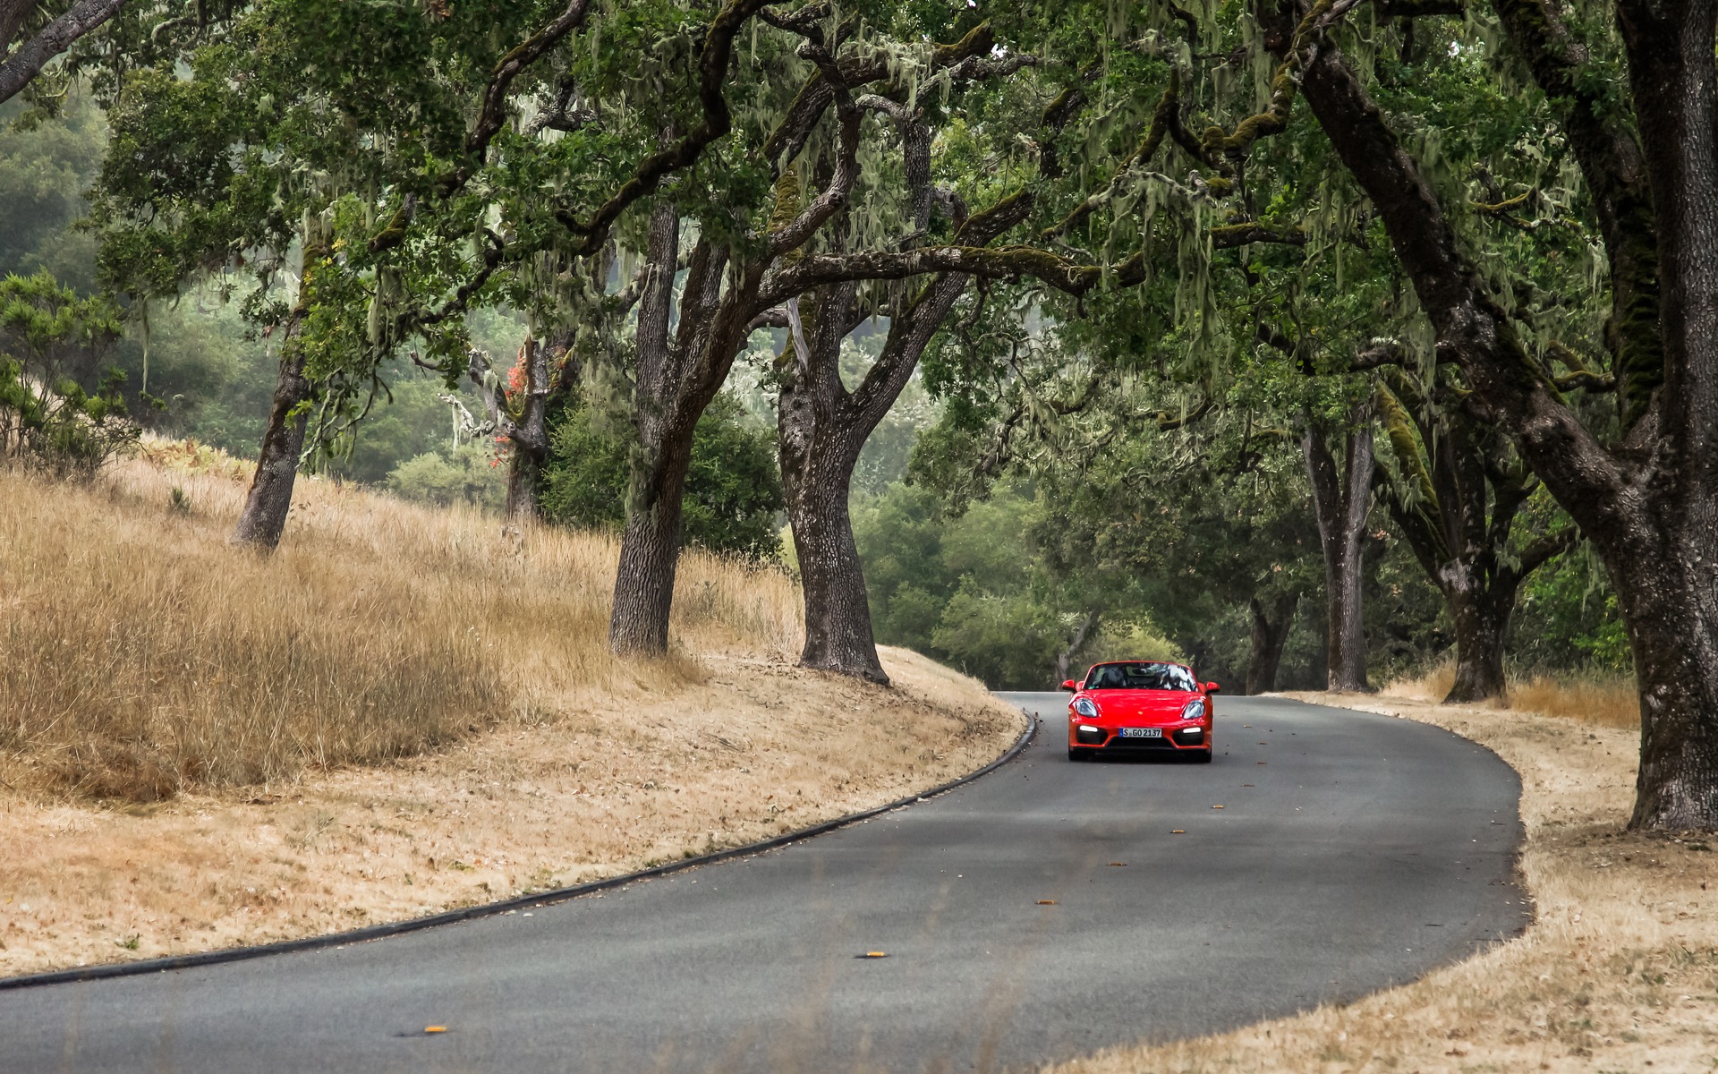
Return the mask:
<path fill-rule="evenodd" d="M 1649 491 L 1629 526 L 1593 540 L 1641 689 L 1630 825 L 1718 830 L 1718 12 L 1622 0 L 1617 15 L 1653 189 L 1665 357 L 1641 421 L 1658 426 Z"/>

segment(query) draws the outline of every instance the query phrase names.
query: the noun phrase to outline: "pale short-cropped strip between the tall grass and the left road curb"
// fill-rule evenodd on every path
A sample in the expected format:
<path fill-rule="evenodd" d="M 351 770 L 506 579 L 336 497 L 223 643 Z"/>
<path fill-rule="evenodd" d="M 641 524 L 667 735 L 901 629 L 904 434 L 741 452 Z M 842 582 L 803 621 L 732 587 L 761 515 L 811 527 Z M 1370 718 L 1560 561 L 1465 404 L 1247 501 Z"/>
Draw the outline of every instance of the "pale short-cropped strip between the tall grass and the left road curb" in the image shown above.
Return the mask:
<path fill-rule="evenodd" d="M 263 943 L 613 876 L 983 766 L 1024 717 L 885 650 L 881 689 L 708 655 L 438 753 L 289 785 L 100 806 L 0 785 L 0 976 Z"/>

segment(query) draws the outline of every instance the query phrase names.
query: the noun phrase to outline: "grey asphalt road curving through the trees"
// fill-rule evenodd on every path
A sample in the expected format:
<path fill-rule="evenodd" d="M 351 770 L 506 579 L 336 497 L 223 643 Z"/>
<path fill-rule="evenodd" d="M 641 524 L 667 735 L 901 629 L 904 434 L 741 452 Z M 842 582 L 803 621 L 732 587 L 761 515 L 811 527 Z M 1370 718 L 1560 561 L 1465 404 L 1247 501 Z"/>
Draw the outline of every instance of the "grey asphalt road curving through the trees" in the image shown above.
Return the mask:
<path fill-rule="evenodd" d="M 1464 739 L 1220 698 L 1209 766 L 1074 765 L 1065 694 L 1008 698 L 1046 717 L 1019 760 L 780 851 L 0 992 L 0 1071 L 996 1071 L 1356 997 L 1526 923 L 1515 773 Z"/>

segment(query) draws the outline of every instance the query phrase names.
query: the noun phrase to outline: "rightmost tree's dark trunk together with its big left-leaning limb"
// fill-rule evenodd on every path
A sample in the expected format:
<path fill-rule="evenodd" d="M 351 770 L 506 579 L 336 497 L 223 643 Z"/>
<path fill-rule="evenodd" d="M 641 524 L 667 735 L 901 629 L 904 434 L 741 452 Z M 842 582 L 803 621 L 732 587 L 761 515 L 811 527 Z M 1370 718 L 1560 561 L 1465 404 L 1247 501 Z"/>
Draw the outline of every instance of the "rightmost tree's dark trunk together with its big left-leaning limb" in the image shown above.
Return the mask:
<path fill-rule="evenodd" d="M 1641 693 L 1641 768 L 1630 825 L 1718 830 L 1715 10 L 1711 0 L 1624 0 L 1618 22 L 1651 180 L 1658 259 L 1651 285 L 1663 364 L 1661 387 L 1641 406 L 1617 450 L 1581 424 L 1484 292 L 1417 162 L 1337 48 L 1319 50 L 1302 89 L 1378 208 L 1436 330 L 1440 354 L 1460 364 L 1476 404 L 1507 424 L 1517 450 L 1605 560 Z M 1548 34 L 1526 43 L 1544 40 Z M 1582 143 L 1572 141 L 1572 148 L 1586 172 L 1608 167 Z M 1596 198 L 1606 196 L 1601 182 L 1589 179 L 1589 186 Z M 1625 215 L 1610 217 L 1622 230 L 1634 227 Z M 1613 251 L 1622 241 L 1620 232 L 1606 235 Z M 1639 339 L 1651 326 L 1634 318 L 1611 330 Z"/>

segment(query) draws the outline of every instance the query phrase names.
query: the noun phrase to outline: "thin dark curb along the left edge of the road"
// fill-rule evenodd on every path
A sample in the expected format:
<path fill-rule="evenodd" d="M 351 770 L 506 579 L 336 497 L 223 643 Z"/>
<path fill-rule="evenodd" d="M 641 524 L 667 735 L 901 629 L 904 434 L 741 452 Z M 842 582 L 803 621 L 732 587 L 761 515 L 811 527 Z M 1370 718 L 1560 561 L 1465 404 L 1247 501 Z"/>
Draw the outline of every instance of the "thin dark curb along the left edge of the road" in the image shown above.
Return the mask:
<path fill-rule="evenodd" d="M 1015 706 L 1019 710 L 1019 706 Z M 399 937 L 404 933 L 423 931 L 428 928 L 442 928 L 445 924 L 459 924 L 460 921 L 474 921 L 478 918 L 493 918 L 497 914 L 505 914 L 509 911 L 550 906 L 555 902 L 567 902 L 581 895 L 589 895 L 593 892 L 605 892 L 617 887 L 625 887 L 629 883 L 637 883 L 639 880 L 655 880 L 656 876 L 667 876 L 670 873 L 680 873 L 698 866 L 716 864 L 720 861 L 730 861 L 734 857 L 747 857 L 751 854 L 761 854 L 765 851 L 775 851 L 789 844 L 795 844 L 837 828 L 845 828 L 847 825 L 856 825 L 862 820 L 890 813 L 893 809 L 904 809 L 907 806 L 938 797 L 959 787 L 971 784 L 972 780 L 990 775 L 991 772 L 1002 768 L 1008 761 L 1020 756 L 1038 734 L 1039 720 L 1038 717 L 1019 710 L 1026 717 L 1026 729 L 1014 741 L 1008 749 L 1005 749 L 993 761 L 983 768 L 974 768 L 972 772 L 948 780 L 947 784 L 938 784 L 929 790 L 921 790 L 909 794 L 905 797 L 897 797 L 892 802 L 881 806 L 873 806 L 869 809 L 861 809 L 857 813 L 849 813 L 845 816 L 837 816 L 835 820 L 826 820 L 823 823 L 811 825 L 807 828 L 799 828 L 795 832 L 787 832 L 785 835 L 777 835 L 775 839 L 765 839 L 761 842 L 746 844 L 740 847 L 728 847 L 725 851 L 715 851 L 711 854 L 699 854 L 698 857 L 682 857 L 680 861 L 670 861 L 668 864 L 651 866 L 648 870 L 637 870 L 634 873 L 624 873 L 620 876 L 608 876 L 606 880 L 591 880 L 588 883 L 576 883 L 572 887 L 555 888 L 551 892 L 538 892 L 534 895 L 515 895 L 512 899 L 502 899 L 500 902 L 484 902 L 481 906 L 466 906 L 454 911 L 445 911 L 440 914 L 430 914 L 428 918 L 409 918 L 405 921 L 390 921 L 385 924 L 366 924 L 364 928 L 354 928 L 344 933 L 325 933 L 321 937 L 301 937 L 297 940 L 278 940 L 275 943 L 256 943 L 247 947 L 227 947 L 222 950 L 204 950 L 186 955 L 165 955 L 160 959 L 139 959 L 137 962 L 103 962 L 101 966 L 79 966 L 77 969 L 50 969 L 46 973 L 29 973 L 15 978 L 0 978 L 0 992 L 12 992 L 17 988 L 45 988 L 50 985 L 70 985 L 76 981 L 100 981 L 107 978 L 132 978 L 144 976 L 151 973 L 167 973 L 170 969 L 194 969 L 199 966 L 218 966 L 222 962 L 244 962 L 249 959 L 265 959 L 270 955 L 285 955 L 302 950 L 321 950 L 328 947 L 345 947 L 347 943 L 366 943 L 369 940 L 383 940 L 387 937 Z"/>

